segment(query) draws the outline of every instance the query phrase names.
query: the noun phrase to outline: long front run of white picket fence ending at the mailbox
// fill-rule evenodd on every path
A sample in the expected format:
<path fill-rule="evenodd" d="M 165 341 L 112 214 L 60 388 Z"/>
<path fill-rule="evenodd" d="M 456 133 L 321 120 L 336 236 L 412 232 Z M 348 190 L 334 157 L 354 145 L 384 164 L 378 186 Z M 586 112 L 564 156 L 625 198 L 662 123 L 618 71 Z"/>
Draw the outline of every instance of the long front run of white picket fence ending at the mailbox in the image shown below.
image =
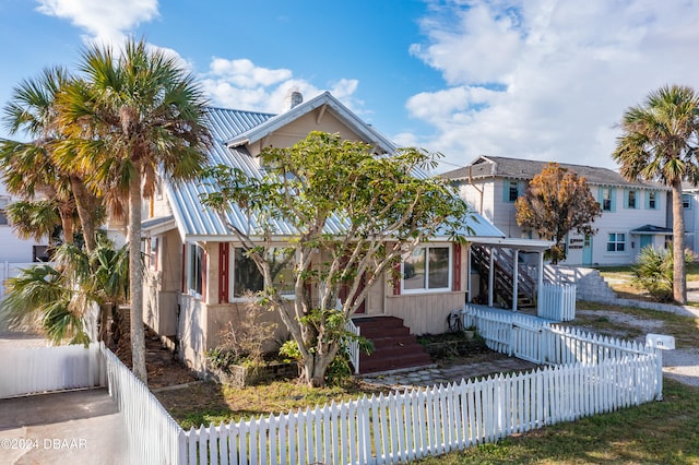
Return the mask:
<path fill-rule="evenodd" d="M 202 426 L 185 434 L 181 463 L 405 463 L 650 402 L 654 367 L 652 357 L 546 367 Z"/>

